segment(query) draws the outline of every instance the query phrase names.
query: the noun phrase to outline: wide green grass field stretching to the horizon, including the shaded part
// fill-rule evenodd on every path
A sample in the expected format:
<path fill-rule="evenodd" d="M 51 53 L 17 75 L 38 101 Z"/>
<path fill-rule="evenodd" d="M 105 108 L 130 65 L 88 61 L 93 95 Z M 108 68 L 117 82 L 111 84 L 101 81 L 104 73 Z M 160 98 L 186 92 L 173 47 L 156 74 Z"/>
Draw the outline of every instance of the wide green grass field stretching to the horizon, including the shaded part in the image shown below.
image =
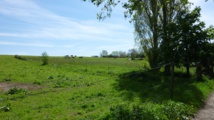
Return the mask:
<path fill-rule="evenodd" d="M 176 68 L 171 101 L 171 77 L 149 71 L 145 60 L 50 57 L 42 66 L 40 57 L 25 58 L 0 56 L 2 120 L 112 119 L 133 106 L 148 119 L 188 119 L 214 88 L 207 77 L 196 81 L 193 68 L 188 79 Z"/>

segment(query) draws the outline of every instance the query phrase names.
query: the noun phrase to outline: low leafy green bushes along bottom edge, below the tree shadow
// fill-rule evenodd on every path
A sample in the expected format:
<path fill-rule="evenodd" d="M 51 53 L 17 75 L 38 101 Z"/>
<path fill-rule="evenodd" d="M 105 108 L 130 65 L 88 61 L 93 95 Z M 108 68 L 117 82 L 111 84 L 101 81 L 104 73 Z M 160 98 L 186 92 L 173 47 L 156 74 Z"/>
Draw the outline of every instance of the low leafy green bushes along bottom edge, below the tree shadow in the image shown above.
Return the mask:
<path fill-rule="evenodd" d="M 133 106 L 118 105 L 110 108 L 110 113 L 103 120 L 188 120 L 192 116 L 192 106 L 183 103 L 167 101 L 161 105 Z"/>

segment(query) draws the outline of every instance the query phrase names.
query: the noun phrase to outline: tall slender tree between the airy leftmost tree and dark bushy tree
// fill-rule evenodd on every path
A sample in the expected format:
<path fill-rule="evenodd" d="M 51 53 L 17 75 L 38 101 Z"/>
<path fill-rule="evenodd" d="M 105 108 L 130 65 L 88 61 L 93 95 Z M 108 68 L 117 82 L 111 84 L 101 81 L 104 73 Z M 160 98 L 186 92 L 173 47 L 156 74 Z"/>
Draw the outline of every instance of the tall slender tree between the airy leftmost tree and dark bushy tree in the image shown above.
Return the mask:
<path fill-rule="evenodd" d="M 164 63 L 174 62 L 173 58 L 175 57 L 172 54 L 173 47 L 172 43 L 174 40 L 171 39 L 171 28 L 170 24 L 175 22 L 176 16 L 179 11 L 186 9 L 186 6 L 189 4 L 188 0 L 159 0 L 161 4 L 160 11 L 160 20 L 162 23 L 161 26 L 161 45 L 160 52 L 162 54 L 162 61 Z M 170 74 L 170 66 L 165 66 L 165 74 Z"/>

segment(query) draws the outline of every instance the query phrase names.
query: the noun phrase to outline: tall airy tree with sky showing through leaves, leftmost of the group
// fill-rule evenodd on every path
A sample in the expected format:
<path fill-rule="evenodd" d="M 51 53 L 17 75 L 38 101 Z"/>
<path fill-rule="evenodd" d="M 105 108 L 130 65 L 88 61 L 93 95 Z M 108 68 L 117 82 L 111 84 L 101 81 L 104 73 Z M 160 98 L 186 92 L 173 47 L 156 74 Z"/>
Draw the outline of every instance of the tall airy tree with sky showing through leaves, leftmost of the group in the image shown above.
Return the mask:
<path fill-rule="evenodd" d="M 151 67 L 158 65 L 158 46 L 160 43 L 158 12 L 160 6 L 157 0 L 139 1 L 135 8 L 133 22 L 136 42 L 143 48 Z M 128 6 L 127 6 L 128 7 Z M 136 7 L 136 6 L 129 6 Z"/>

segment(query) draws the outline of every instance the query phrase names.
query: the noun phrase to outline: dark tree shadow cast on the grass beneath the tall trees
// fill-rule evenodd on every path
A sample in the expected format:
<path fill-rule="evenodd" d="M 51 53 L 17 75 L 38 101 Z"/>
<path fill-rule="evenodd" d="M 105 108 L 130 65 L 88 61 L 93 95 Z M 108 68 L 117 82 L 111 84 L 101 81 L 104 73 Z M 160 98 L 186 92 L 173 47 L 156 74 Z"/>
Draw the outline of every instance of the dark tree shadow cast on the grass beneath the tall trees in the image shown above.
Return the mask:
<path fill-rule="evenodd" d="M 162 103 L 170 100 L 170 80 L 171 76 L 165 76 L 162 72 L 133 71 L 119 75 L 114 87 L 121 91 L 124 100 L 140 98 L 142 102 Z M 192 84 L 194 82 L 193 77 L 186 78 L 183 73 L 176 72 L 173 100 L 199 107 L 204 96 Z"/>

